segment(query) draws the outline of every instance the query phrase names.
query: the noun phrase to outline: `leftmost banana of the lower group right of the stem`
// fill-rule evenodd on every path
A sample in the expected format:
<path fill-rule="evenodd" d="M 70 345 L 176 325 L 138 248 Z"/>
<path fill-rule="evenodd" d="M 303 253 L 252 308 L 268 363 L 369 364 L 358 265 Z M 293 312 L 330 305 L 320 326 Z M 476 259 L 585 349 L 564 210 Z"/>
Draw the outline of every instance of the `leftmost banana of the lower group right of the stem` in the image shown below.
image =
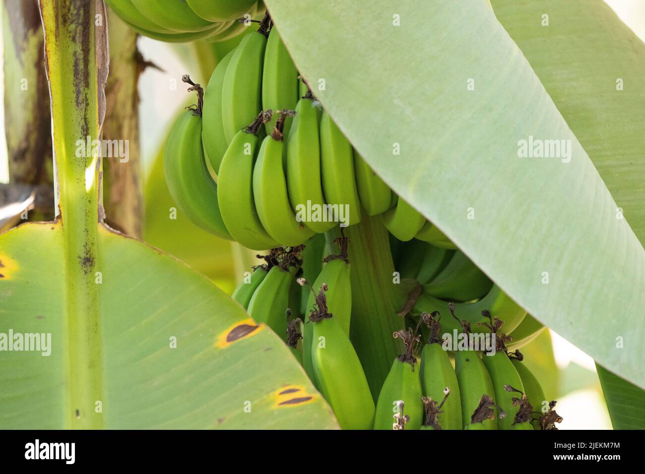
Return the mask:
<path fill-rule="evenodd" d="M 398 400 L 403 400 L 406 420 L 406 430 L 419 430 L 423 423 L 423 407 L 420 403 L 422 397 L 421 377 L 419 376 L 419 363 L 413 353 L 415 346 L 421 338 L 417 336 L 417 329 L 409 328 L 407 331 L 399 330 L 394 337 L 400 337 L 405 344 L 405 351 L 394 359 L 388 377 L 383 382 L 379 399 L 376 402 L 374 414 L 375 430 L 392 430 L 393 408 Z"/>

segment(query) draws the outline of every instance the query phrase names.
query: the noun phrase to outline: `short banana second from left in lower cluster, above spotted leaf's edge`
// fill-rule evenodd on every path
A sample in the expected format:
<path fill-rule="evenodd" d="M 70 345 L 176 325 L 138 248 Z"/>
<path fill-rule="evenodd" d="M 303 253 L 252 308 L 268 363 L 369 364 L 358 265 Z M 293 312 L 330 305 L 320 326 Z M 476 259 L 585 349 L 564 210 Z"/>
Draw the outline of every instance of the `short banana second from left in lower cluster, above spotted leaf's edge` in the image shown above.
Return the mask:
<path fill-rule="evenodd" d="M 251 317 L 266 323 L 284 341 L 287 336 L 284 311 L 289 307 L 289 289 L 297 269 L 291 264 L 273 266 L 248 304 Z"/>

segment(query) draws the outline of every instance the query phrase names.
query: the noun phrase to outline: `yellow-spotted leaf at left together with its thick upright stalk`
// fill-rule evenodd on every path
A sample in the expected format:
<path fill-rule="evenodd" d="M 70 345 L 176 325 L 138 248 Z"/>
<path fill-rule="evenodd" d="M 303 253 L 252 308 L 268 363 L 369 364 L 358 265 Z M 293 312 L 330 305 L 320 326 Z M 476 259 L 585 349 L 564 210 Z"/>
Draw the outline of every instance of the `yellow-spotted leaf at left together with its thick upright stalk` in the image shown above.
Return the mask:
<path fill-rule="evenodd" d="M 277 335 L 101 224 L 98 160 L 76 141 L 99 137 L 103 1 L 40 7 L 59 217 L 0 235 L 0 428 L 337 428 Z"/>

